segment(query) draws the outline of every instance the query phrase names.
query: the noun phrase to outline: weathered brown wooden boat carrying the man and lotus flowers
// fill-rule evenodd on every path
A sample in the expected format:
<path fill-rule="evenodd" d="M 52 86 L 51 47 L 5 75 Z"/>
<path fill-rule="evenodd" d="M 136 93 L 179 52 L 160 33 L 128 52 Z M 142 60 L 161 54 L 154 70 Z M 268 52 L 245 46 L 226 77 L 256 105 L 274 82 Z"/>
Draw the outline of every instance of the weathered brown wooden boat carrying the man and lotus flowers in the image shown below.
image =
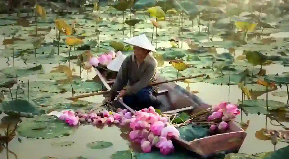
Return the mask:
<path fill-rule="evenodd" d="M 112 84 L 114 83 L 114 78 L 109 78 L 107 76 L 107 71 L 101 69 L 100 67 L 95 67 L 94 69 L 105 87 L 110 90 Z M 165 81 L 165 79 L 160 77 L 158 74 L 157 78 L 159 81 Z M 192 112 L 211 107 L 210 105 L 201 101 L 199 97 L 188 92 L 179 85 L 176 85 L 174 82 L 160 84 L 159 87 L 160 89 L 157 99 L 159 99 L 165 105 L 165 108 L 161 108 L 161 111 L 164 113 L 184 111 Z M 122 99 L 118 99 L 117 102 L 122 107 L 126 108 L 132 113 L 135 113 L 135 110 L 128 107 L 122 101 Z M 227 132 L 224 134 L 208 136 L 190 142 L 177 138 L 176 142 L 182 147 L 193 151 L 204 158 L 210 157 L 216 153 L 239 151 L 247 134 L 235 123 L 229 122 L 228 124 L 229 130 L 227 130 Z"/>

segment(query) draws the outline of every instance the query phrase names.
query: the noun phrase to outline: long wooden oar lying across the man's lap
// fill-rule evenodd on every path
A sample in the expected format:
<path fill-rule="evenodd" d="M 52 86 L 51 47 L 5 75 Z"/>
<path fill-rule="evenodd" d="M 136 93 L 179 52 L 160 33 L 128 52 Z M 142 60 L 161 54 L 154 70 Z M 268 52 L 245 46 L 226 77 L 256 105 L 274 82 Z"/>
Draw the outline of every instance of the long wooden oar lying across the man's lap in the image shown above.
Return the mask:
<path fill-rule="evenodd" d="M 192 79 L 192 78 L 198 78 L 198 77 L 204 77 L 207 74 L 203 74 L 203 75 L 197 75 L 197 76 L 190 76 L 190 77 L 181 77 L 181 78 L 177 78 L 177 79 L 172 79 L 172 80 L 165 80 L 163 82 L 156 82 L 156 83 L 151 83 L 150 86 L 155 86 L 158 84 L 163 84 L 163 83 L 169 83 L 169 82 L 175 82 L 175 81 L 181 81 L 181 80 L 185 80 L 185 79 Z M 126 90 L 126 88 L 124 88 L 123 90 Z M 69 97 L 67 99 L 73 100 L 73 99 L 79 99 L 79 98 L 84 98 L 84 97 L 91 97 L 91 96 L 95 96 L 95 95 L 102 95 L 102 94 L 107 94 L 110 93 L 110 90 L 105 90 L 105 91 L 101 91 L 101 92 L 94 92 L 94 93 L 88 93 L 88 94 L 84 94 L 84 95 L 77 95 L 74 97 Z"/>

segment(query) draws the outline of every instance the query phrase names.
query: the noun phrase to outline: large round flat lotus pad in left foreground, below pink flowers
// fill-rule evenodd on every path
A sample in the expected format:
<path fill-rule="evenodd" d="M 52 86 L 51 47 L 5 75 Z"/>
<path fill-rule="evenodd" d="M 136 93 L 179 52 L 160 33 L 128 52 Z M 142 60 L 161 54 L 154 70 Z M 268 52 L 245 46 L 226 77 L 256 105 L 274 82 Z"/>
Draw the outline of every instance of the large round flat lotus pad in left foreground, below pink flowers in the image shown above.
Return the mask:
<path fill-rule="evenodd" d="M 75 128 L 54 116 L 41 115 L 35 118 L 23 118 L 18 125 L 20 136 L 27 138 L 57 138 L 69 136 Z"/>

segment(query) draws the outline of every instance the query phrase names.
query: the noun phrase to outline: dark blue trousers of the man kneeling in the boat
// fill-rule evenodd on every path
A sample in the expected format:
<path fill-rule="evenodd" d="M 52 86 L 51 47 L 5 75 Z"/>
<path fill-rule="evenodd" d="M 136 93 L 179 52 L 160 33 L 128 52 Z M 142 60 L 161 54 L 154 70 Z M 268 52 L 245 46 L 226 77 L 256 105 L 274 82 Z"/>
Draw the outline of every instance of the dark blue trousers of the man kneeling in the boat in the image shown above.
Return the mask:
<path fill-rule="evenodd" d="M 162 106 L 156 97 L 156 91 L 153 90 L 152 86 L 147 86 L 138 91 L 138 93 L 133 95 L 127 95 L 123 97 L 123 102 L 134 110 L 141 110 L 143 108 L 153 108 L 158 109 Z"/>

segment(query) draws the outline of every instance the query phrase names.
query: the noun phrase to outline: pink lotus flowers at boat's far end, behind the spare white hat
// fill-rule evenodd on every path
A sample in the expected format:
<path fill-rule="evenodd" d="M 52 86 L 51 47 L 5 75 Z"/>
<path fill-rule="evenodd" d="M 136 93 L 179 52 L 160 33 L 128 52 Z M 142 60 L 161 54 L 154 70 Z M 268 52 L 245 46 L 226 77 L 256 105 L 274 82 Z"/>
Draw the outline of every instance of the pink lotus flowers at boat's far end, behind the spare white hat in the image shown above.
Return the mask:
<path fill-rule="evenodd" d="M 89 60 L 89 64 L 92 66 L 98 66 L 98 64 L 106 66 L 110 61 L 112 61 L 116 56 L 122 54 L 121 51 L 114 53 L 114 51 L 109 51 L 108 53 L 103 53 L 99 57 L 92 57 Z"/>

